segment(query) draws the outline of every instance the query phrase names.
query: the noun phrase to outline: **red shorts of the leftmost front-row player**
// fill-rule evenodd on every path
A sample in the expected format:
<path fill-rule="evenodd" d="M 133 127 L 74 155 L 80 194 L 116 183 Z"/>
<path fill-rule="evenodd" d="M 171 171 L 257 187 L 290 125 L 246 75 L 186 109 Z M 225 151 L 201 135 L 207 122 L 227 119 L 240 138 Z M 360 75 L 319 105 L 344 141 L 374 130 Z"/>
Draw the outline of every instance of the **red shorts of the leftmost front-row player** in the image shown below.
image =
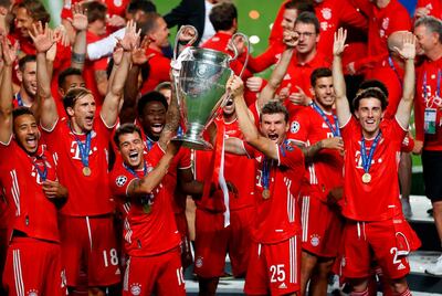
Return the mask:
<path fill-rule="evenodd" d="M 8 295 L 66 295 L 60 244 L 13 237 L 8 249 L 3 285 Z"/>

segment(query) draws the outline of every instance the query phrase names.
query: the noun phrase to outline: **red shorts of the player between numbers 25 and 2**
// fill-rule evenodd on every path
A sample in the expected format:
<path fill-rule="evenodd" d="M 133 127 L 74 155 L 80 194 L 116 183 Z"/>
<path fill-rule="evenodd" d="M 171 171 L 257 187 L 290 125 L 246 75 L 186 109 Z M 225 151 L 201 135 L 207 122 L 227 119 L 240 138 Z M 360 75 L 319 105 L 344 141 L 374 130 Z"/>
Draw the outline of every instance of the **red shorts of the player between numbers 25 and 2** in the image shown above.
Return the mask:
<path fill-rule="evenodd" d="M 319 257 L 336 257 L 343 232 L 339 213 L 315 197 L 302 198 L 302 247 Z"/>

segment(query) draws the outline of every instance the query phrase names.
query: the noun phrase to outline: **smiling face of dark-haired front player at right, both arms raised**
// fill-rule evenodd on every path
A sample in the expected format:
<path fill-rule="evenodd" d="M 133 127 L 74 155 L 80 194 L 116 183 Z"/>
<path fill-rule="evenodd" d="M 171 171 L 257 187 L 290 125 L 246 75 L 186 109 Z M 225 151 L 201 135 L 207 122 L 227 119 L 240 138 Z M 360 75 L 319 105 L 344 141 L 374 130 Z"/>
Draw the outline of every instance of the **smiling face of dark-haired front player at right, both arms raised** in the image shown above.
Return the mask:
<path fill-rule="evenodd" d="M 379 130 L 380 121 L 383 117 L 382 104 L 376 97 L 366 97 L 359 101 L 359 107 L 355 112 L 362 134 L 366 138 L 372 138 Z"/>

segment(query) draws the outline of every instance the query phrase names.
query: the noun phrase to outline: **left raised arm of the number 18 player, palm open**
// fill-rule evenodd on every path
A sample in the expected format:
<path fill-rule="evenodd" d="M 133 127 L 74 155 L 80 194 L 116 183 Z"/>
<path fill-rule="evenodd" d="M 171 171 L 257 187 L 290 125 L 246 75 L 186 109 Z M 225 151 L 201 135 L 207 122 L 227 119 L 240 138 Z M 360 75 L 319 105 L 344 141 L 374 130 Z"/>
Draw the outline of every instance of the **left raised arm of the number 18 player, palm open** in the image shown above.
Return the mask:
<path fill-rule="evenodd" d="M 46 130 L 52 130 L 59 119 L 56 104 L 51 93 L 51 77 L 48 73 L 46 52 L 56 42 L 54 33 L 48 24 L 41 22 L 33 25 L 30 35 L 36 50 L 36 104 L 40 110 L 40 124 Z"/>

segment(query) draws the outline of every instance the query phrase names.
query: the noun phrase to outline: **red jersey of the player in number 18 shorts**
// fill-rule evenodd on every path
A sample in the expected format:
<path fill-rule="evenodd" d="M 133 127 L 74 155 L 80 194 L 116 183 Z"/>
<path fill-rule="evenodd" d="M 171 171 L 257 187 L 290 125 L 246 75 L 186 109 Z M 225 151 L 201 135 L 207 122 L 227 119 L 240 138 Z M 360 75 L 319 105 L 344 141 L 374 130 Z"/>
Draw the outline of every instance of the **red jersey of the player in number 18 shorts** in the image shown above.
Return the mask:
<path fill-rule="evenodd" d="M 69 190 L 67 202 L 61 213 L 74 216 L 102 215 L 114 210 L 108 186 L 108 147 L 112 127 L 98 115 L 91 131 L 88 167 L 91 176 L 83 175 L 78 141 L 85 144 L 86 135 L 75 135 L 66 118 L 59 119 L 53 130 L 44 130 L 48 148 L 53 151 L 61 183 Z"/>

